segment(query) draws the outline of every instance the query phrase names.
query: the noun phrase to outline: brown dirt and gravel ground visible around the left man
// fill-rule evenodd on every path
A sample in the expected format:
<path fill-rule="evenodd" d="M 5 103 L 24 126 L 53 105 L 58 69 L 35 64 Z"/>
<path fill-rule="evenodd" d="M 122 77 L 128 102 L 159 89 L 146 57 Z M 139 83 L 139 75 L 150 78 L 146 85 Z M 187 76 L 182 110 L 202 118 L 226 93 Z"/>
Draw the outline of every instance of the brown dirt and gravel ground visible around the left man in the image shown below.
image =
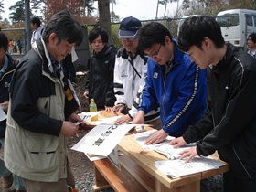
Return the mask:
<path fill-rule="evenodd" d="M 88 110 L 88 104 L 87 101 L 85 101 L 83 97 L 84 92 L 84 84 L 85 84 L 85 76 L 81 75 L 77 77 L 77 83 L 74 84 L 74 89 L 77 92 L 77 95 L 80 99 L 81 109 L 79 112 L 87 112 Z M 68 142 L 69 146 L 72 147 L 74 144 L 77 144 L 80 139 L 86 134 L 86 132 L 83 133 L 77 133 L 76 135 L 69 137 Z M 0 150 L 0 156 L 3 157 L 3 149 Z M 93 165 L 91 161 L 81 152 L 77 152 L 74 150 L 71 150 L 71 162 L 70 162 L 71 169 L 73 171 L 73 174 L 76 178 L 82 178 L 82 175 L 87 172 L 93 173 Z M 10 190 L 4 190 L 2 187 L 2 178 L 0 179 L 0 191 L 2 192 L 8 192 L 13 191 L 14 185 L 10 188 Z"/>

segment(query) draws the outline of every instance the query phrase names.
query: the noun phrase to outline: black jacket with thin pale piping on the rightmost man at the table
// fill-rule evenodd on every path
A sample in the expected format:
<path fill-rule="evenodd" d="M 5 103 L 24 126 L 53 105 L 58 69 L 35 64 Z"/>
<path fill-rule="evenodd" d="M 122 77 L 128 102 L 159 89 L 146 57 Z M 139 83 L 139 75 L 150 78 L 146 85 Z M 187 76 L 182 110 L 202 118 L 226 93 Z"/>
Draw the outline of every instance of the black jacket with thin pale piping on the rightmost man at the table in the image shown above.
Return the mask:
<path fill-rule="evenodd" d="M 198 155 L 218 150 L 232 176 L 256 179 L 256 59 L 227 46 L 225 58 L 208 69 L 208 109 L 183 138 L 199 140 Z"/>

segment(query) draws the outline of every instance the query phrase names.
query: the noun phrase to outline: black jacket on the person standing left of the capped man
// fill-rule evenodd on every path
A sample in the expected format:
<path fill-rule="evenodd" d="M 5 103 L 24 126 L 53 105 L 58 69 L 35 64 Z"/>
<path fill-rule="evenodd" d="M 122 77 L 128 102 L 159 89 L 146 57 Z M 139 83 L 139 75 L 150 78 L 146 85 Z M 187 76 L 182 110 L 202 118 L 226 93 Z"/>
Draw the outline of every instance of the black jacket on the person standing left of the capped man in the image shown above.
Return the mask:
<path fill-rule="evenodd" d="M 94 53 L 88 61 L 88 79 L 85 91 L 89 91 L 89 101 L 94 98 L 98 109 L 113 106 L 116 101 L 113 91 L 113 69 L 116 50 L 105 46 L 100 53 Z"/>

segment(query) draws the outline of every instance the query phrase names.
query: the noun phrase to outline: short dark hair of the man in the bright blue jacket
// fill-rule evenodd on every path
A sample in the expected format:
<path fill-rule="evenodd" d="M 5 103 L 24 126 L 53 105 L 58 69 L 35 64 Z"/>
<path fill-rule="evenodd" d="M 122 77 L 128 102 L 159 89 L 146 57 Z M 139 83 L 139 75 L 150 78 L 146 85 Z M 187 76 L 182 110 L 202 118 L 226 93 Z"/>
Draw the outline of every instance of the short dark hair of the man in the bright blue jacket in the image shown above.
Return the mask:
<path fill-rule="evenodd" d="M 158 22 L 150 22 L 139 29 L 139 48 L 144 51 L 157 43 L 165 45 L 166 36 L 172 40 L 172 35 L 165 26 Z"/>

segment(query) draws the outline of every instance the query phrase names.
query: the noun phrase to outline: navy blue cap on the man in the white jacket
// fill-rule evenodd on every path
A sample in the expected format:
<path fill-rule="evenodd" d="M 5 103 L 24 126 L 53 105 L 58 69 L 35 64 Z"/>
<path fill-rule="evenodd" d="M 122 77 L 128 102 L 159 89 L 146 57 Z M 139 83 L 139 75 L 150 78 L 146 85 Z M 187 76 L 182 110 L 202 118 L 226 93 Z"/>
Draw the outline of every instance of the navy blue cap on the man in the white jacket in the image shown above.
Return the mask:
<path fill-rule="evenodd" d="M 117 37 L 119 38 L 135 38 L 138 35 L 138 29 L 142 27 L 142 23 L 133 16 L 123 18 Z"/>

